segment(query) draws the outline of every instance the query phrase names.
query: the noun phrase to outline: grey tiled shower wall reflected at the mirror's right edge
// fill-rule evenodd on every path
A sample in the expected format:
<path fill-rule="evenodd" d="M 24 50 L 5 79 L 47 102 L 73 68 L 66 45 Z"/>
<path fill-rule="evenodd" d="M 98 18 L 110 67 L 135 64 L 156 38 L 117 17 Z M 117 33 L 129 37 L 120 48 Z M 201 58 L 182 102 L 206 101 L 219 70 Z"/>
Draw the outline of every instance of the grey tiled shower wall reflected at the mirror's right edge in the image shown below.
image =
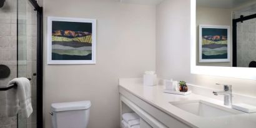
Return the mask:
<path fill-rule="evenodd" d="M 235 14 L 249 16 L 256 12 L 241 12 Z M 237 22 L 237 67 L 249 67 L 251 61 L 256 61 L 256 19 Z"/>

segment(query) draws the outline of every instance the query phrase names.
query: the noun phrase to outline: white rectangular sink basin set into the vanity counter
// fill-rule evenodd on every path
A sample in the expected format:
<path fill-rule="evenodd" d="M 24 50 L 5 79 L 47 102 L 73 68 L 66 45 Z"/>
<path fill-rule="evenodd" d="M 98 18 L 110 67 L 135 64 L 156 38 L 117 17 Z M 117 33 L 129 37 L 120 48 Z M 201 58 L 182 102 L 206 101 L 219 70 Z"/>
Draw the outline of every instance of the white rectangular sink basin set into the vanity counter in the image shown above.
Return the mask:
<path fill-rule="evenodd" d="M 232 116 L 235 114 L 244 114 L 244 112 L 219 106 L 217 104 L 212 104 L 210 102 L 202 100 L 170 102 L 170 104 L 200 117 L 220 117 Z"/>

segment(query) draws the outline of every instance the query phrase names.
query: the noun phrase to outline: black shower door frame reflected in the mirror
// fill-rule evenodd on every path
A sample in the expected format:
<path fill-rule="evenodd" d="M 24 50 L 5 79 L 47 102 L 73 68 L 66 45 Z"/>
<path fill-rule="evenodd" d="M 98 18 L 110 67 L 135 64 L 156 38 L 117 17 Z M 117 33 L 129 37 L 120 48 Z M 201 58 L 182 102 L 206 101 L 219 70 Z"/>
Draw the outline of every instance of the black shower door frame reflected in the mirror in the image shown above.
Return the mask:
<path fill-rule="evenodd" d="M 240 18 L 237 19 L 233 19 L 233 24 L 232 24 L 232 31 L 233 31 L 233 43 L 232 43 L 232 50 L 233 50 L 233 55 L 232 55 L 232 65 L 233 67 L 237 67 L 237 22 L 243 22 L 243 21 L 247 21 L 249 19 L 254 19 L 256 18 L 256 14 L 252 14 L 249 16 L 240 16 Z"/>

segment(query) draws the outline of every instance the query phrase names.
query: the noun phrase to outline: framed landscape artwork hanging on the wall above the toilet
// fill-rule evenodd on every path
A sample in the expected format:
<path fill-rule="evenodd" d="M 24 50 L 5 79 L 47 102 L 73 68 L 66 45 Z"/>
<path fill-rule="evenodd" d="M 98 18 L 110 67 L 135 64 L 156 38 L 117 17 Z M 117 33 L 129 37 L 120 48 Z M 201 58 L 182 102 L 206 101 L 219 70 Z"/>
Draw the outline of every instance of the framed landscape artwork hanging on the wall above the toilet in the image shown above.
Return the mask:
<path fill-rule="evenodd" d="M 96 19 L 48 17 L 47 64 L 96 64 Z"/>

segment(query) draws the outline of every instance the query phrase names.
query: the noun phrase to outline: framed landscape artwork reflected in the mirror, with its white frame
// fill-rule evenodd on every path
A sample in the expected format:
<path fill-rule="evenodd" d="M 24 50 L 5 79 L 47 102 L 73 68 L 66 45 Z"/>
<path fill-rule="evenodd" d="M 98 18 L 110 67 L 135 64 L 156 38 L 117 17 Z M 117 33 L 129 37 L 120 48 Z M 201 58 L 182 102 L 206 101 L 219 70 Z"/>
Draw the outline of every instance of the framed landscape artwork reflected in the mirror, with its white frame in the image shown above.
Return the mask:
<path fill-rule="evenodd" d="M 199 62 L 230 62 L 230 26 L 199 25 Z"/>

